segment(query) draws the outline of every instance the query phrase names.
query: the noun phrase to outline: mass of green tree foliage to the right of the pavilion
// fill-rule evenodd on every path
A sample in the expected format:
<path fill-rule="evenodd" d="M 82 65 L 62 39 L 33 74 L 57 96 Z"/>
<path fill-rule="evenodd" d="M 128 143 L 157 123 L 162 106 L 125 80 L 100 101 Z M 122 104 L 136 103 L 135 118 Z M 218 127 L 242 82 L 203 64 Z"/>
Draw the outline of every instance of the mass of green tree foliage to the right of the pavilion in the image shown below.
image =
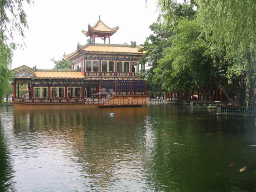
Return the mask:
<path fill-rule="evenodd" d="M 232 104 L 256 100 L 256 2 L 254 0 L 157 0 L 158 25 L 166 39 L 147 38 L 152 82 L 165 90 L 222 90 Z M 154 48 L 158 52 L 154 52 Z M 150 73 L 151 72 L 151 73 Z M 235 103 L 236 102 L 236 103 Z"/>

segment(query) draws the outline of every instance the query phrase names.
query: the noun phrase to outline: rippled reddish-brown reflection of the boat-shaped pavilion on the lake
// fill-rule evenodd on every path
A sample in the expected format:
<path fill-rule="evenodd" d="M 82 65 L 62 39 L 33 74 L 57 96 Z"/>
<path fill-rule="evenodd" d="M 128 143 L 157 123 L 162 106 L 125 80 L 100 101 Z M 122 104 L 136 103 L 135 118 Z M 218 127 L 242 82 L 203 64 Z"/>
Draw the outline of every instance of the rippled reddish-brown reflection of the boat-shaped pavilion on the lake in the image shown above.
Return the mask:
<path fill-rule="evenodd" d="M 47 169 L 59 173 L 69 170 L 68 175 L 81 183 L 81 189 L 110 190 L 112 186 L 116 188 L 118 182 L 122 189 L 142 177 L 140 172 L 133 170 L 140 166 L 140 161 L 134 161 L 134 157 L 142 146 L 133 144 L 140 143 L 136 126 L 144 127 L 140 119 L 148 108 L 136 109 L 14 110 L 14 132 L 19 135 L 18 142 L 29 146 L 31 151 L 26 153 L 32 153 L 30 159 L 44 161 L 46 172 L 49 172 Z M 110 117 L 110 112 L 114 112 L 114 118 Z M 42 159 L 46 155 L 47 158 Z M 39 160 L 37 163 L 42 164 Z M 64 161 L 65 168 L 59 161 Z M 33 162 L 34 159 L 29 164 Z M 64 175 L 67 173 L 58 174 L 62 179 Z"/>

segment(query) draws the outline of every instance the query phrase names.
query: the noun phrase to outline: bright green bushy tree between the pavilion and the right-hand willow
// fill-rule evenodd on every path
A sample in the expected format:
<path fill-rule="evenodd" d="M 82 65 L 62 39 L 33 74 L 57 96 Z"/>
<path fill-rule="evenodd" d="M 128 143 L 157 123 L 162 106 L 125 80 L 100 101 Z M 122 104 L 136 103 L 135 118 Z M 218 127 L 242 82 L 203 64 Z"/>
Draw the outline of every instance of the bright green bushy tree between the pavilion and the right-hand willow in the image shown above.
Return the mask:
<path fill-rule="evenodd" d="M 168 46 L 164 49 L 163 58 L 154 70 L 154 81 L 163 82 L 168 90 L 183 90 L 188 99 L 193 90 L 204 93 L 212 100 L 214 90 L 215 68 L 206 41 L 200 38 L 200 28 L 195 20 L 183 19 L 174 26 L 174 35 L 168 38 Z"/>

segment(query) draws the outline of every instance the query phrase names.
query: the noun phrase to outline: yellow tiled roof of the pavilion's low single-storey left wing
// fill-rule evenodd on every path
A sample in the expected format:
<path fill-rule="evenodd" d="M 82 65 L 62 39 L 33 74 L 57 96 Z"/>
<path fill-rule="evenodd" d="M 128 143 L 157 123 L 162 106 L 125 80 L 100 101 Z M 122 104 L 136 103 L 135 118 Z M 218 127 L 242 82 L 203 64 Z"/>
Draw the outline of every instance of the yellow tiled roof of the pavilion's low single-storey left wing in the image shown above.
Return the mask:
<path fill-rule="evenodd" d="M 83 79 L 82 72 L 73 70 L 38 70 L 35 78 L 72 78 Z"/>

